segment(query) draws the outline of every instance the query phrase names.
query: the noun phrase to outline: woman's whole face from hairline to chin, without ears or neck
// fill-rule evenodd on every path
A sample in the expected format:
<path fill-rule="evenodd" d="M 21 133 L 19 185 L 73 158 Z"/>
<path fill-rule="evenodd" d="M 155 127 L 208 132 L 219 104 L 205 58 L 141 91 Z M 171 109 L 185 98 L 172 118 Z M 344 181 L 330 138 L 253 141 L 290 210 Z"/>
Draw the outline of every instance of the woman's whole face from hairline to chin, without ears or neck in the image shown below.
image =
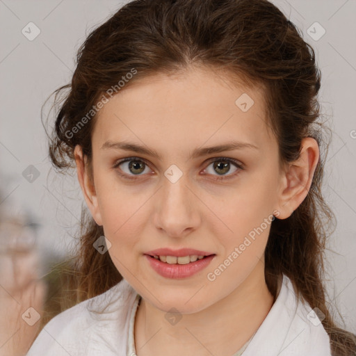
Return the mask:
<path fill-rule="evenodd" d="M 198 312 L 264 273 L 282 177 L 264 105 L 261 89 L 195 69 L 137 81 L 99 112 L 90 211 L 111 243 L 106 253 L 155 307 Z M 172 251 L 152 253 L 163 248 Z M 174 264 L 183 248 L 198 252 Z M 213 256 L 194 261 L 199 254 Z"/>

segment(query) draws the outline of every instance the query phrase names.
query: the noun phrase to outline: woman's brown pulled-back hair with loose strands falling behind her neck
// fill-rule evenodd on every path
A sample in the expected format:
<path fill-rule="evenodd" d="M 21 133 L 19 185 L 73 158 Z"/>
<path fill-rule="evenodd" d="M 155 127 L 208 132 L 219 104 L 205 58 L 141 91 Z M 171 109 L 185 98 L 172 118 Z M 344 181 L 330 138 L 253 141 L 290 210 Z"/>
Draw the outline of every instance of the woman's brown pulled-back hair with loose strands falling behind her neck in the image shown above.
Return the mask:
<path fill-rule="evenodd" d="M 110 88 L 158 72 L 177 72 L 191 65 L 225 70 L 245 83 L 263 86 L 268 123 L 280 147 L 280 160 L 298 158 L 301 140 L 323 144 L 323 124 L 316 96 L 321 72 L 315 54 L 292 22 L 266 0 L 136 0 L 127 3 L 92 31 L 79 49 L 70 89 L 56 116 L 49 153 L 57 170 L 74 167 L 80 145 L 90 168 L 95 105 Z M 136 70 L 134 76 L 128 76 Z M 129 80 L 124 80 L 124 79 Z M 90 115 L 88 116 L 88 113 Z M 86 120 L 83 118 L 87 118 Z M 326 154 L 327 145 L 321 151 Z M 268 289 L 276 296 L 277 278 L 287 275 L 309 305 L 325 314 L 332 355 L 355 355 L 356 337 L 337 327 L 327 308 L 323 280 L 325 223 L 334 215 L 323 200 L 321 155 L 305 200 L 284 220 L 275 219 L 265 252 Z M 91 169 L 91 168 L 90 168 Z M 104 293 L 122 279 L 109 254 L 93 243 L 104 235 L 83 208 L 76 302 Z"/>

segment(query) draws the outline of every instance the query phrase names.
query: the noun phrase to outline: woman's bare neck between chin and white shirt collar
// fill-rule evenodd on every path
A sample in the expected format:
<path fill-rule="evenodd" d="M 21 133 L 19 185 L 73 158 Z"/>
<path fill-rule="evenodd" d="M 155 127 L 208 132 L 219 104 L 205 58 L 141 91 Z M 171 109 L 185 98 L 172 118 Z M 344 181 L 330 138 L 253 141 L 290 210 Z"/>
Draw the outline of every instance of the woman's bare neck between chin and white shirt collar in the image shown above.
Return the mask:
<path fill-rule="evenodd" d="M 261 266 L 262 265 L 262 266 Z M 273 305 L 258 266 L 227 297 L 171 325 L 165 312 L 141 300 L 134 327 L 138 356 L 233 355 L 257 331 Z"/>

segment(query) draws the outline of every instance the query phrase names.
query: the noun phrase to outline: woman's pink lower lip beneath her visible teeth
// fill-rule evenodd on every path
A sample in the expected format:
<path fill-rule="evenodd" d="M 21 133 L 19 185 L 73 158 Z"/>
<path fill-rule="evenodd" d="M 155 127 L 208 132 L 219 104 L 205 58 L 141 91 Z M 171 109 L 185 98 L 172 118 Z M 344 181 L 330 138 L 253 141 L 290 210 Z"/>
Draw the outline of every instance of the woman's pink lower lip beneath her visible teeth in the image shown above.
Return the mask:
<path fill-rule="evenodd" d="M 175 279 L 195 275 L 195 273 L 198 273 L 200 270 L 207 267 L 215 256 L 215 254 L 211 254 L 210 256 L 204 257 L 204 259 L 197 259 L 197 261 L 190 262 L 189 264 L 166 264 L 159 259 L 155 259 L 154 257 L 145 254 L 149 264 L 156 273 L 162 277 Z"/>

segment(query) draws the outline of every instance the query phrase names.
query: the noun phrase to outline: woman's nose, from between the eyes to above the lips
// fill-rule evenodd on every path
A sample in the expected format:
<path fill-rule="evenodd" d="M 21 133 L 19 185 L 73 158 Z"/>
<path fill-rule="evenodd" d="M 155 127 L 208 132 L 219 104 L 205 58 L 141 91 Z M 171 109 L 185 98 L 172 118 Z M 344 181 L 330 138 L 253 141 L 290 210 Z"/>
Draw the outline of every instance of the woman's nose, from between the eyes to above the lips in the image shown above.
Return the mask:
<path fill-rule="evenodd" d="M 197 229 L 200 224 L 199 200 L 188 186 L 185 175 L 175 182 L 164 178 L 158 194 L 159 202 L 154 211 L 157 229 L 175 238 L 184 238 Z"/>

